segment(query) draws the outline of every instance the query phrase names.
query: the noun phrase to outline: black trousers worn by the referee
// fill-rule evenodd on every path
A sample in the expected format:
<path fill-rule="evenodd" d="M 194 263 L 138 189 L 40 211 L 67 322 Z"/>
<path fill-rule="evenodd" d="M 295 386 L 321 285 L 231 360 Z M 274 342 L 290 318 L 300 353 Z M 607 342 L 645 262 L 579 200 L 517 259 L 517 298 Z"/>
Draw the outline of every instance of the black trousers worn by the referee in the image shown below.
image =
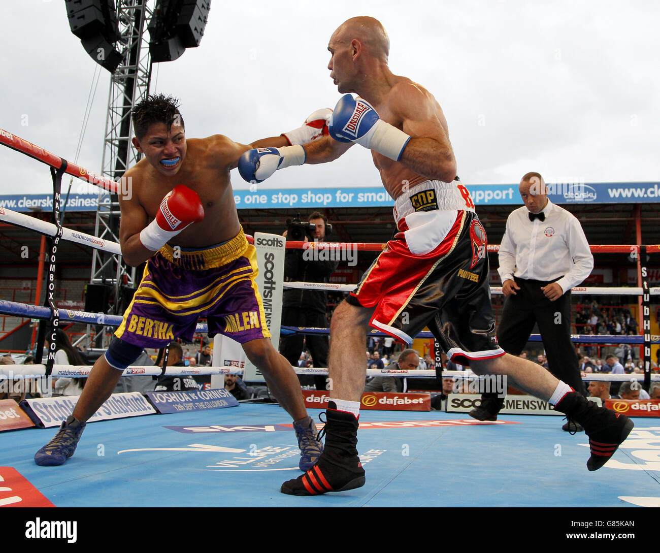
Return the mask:
<path fill-rule="evenodd" d="M 539 325 L 550 372 L 575 391 L 587 395 L 580 377 L 576 347 L 571 342 L 570 291 L 551 302 L 541 290 L 541 286 L 550 282 L 522 278 L 516 278 L 515 282 L 520 290 L 504 300 L 498 323 L 500 347 L 507 353 L 519 355 L 529 341 L 534 325 Z"/>

